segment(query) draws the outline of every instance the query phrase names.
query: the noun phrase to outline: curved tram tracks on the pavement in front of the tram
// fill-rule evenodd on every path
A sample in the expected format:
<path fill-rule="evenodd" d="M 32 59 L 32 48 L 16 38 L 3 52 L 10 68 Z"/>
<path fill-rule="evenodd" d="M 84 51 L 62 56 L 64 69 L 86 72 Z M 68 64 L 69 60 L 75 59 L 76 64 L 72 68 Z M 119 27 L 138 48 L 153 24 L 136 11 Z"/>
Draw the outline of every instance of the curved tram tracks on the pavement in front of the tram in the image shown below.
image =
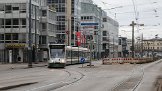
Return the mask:
<path fill-rule="evenodd" d="M 51 69 L 51 71 L 56 71 L 55 69 Z M 34 76 L 34 79 L 32 80 L 26 80 L 27 77 L 23 77 L 21 78 L 23 81 L 19 81 L 19 83 L 15 83 L 12 85 L 9 85 L 7 87 L 3 87 L 1 89 L 3 90 L 7 90 L 7 91 L 51 91 L 51 90 L 56 90 L 59 88 L 62 88 L 64 86 L 68 86 L 71 84 L 74 84 L 78 81 L 80 81 L 81 79 L 83 79 L 84 74 L 79 72 L 79 71 L 71 71 L 71 70 L 66 70 L 66 69 L 61 69 L 57 71 L 62 71 L 62 74 L 66 74 L 64 75 L 64 77 L 62 76 L 59 77 L 59 79 L 56 78 L 51 78 L 51 76 L 48 76 L 49 78 L 45 78 L 44 77 L 36 77 Z M 32 76 L 33 77 L 33 76 Z M 29 77 L 28 77 L 29 78 Z M 45 78 L 45 79 L 44 79 Z M 16 80 L 16 79 L 15 79 Z M 26 80 L 26 81 L 24 81 Z M 18 80 L 16 80 L 18 81 Z M 34 81 L 34 82 L 33 82 Z M 31 83 L 32 82 L 32 83 Z"/>

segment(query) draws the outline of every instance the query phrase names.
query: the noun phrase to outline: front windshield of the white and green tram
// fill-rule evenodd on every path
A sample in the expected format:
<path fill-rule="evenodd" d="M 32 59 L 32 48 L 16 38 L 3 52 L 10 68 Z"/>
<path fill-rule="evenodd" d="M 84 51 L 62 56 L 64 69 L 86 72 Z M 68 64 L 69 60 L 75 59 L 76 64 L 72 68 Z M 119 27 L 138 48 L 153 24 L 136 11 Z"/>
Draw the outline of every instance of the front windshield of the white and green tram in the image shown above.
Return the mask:
<path fill-rule="evenodd" d="M 64 58 L 64 49 L 51 49 L 51 58 Z"/>

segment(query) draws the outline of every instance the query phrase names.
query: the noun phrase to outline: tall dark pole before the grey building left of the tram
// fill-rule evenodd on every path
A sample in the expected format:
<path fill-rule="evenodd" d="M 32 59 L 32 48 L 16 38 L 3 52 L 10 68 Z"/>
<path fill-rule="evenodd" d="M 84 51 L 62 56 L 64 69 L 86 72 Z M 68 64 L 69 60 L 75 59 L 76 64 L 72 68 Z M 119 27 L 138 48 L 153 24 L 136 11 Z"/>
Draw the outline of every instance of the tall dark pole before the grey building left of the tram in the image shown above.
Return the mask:
<path fill-rule="evenodd" d="M 32 68 L 32 34 L 31 34 L 31 0 L 29 0 L 29 45 L 28 45 L 28 67 Z"/>

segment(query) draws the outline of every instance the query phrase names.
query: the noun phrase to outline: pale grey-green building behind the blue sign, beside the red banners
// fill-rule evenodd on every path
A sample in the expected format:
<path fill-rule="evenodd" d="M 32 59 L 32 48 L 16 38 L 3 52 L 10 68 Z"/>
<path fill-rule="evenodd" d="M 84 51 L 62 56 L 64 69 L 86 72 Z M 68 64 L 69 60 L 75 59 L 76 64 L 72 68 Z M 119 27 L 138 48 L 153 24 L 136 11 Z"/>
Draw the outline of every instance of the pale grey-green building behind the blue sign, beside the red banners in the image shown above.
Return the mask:
<path fill-rule="evenodd" d="M 101 58 L 101 25 L 103 10 L 92 0 L 81 0 L 81 28 L 86 38 L 84 45 L 92 44 L 94 58 Z M 90 43 L 91 42 L 91 43 Z"/>

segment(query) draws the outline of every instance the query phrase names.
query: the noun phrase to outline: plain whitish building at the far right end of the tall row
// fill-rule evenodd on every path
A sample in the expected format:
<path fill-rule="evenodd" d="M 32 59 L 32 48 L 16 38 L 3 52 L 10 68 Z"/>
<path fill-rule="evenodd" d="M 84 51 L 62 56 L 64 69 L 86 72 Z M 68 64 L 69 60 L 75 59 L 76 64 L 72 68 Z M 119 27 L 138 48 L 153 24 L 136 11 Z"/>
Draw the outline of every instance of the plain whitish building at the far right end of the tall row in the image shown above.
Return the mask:
<path fill-rule="evenodd" d="M 111 58 L 118 57 L 119 23 L 105 14 L 102 18 L 101 32 L 101 55 L 108 54 Z"/>

